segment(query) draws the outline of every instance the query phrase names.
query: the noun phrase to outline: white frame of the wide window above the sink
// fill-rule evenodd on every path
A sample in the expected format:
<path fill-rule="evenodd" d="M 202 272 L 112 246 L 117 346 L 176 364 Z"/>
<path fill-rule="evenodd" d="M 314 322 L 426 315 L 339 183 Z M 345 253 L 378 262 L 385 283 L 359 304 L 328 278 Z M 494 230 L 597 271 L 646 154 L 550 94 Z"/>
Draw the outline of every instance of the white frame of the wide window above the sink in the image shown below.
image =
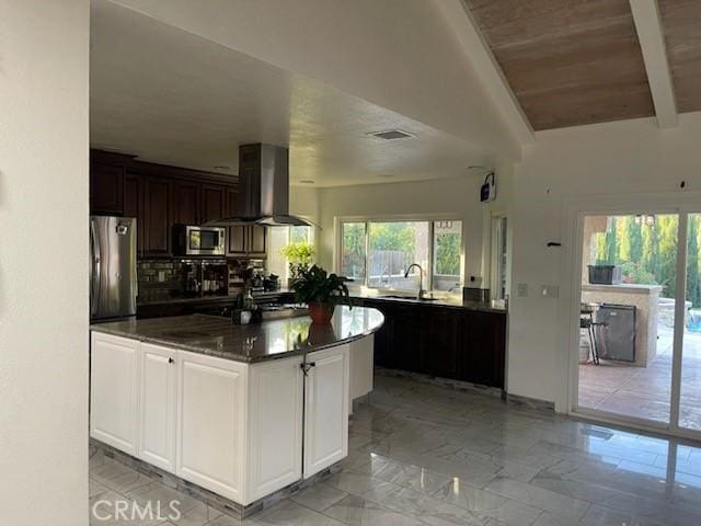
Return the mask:
<path fill-rule="evenodd" d="M 337 274 L 342 274 L 343 262 L 343 225 L 346 222 L 365 224 L 365 277 L 363 282 L 348 284 L 350 288 L 366 288 L 369 290 L 415 293 L 415 288 L 375 287 L 369 285 L 368 255 L 370 249 L 370 222 L 428 222 L 428 266 L 424 268 L 424 290 L 447 293 L 447 290 L 434 290 L 434 258 L 435 258 L 435 222 L 437 221 L 460 221 L 460 274 L 458 276 L 460 291 L 464 286 L 464 261 L 466 261 L 466 220 L 459 214 L 402 214 L 389 216 L 336 216 L 334 217 L 334 250 L 333 268 Z"/>

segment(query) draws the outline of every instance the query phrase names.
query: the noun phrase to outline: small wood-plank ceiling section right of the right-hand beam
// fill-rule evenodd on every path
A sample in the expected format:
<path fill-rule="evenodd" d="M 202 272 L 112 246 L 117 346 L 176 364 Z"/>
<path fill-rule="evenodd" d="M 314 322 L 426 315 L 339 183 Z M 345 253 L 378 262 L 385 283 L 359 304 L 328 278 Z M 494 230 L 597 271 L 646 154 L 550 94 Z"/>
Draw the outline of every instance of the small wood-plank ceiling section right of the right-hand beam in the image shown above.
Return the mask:
<path fill-rule="evenodd" d="M 677 110 L 698 112 L 701 110 L 701 1 L 658 2 Z"/>

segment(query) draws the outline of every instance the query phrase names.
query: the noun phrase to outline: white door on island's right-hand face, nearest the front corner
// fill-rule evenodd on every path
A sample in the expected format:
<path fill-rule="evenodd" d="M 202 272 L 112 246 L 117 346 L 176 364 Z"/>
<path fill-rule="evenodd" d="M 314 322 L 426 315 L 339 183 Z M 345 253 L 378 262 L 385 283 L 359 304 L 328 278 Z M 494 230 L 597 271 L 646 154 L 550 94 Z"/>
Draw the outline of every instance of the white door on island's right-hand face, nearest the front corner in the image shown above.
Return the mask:
<path fill-rule="evenodd" d="M 297 356 L 250 368 L 249 502 L 301 479 L 301 356 Z"/>

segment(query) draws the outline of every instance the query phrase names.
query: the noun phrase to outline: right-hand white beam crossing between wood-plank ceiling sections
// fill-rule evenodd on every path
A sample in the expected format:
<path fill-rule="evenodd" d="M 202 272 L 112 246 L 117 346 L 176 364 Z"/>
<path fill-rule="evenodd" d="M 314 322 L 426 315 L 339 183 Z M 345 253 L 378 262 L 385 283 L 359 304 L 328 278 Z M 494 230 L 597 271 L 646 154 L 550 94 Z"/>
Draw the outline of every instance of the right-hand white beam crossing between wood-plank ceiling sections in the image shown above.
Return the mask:
<path fill-rule="evenodd" d="M 660 128 L 674 128 L 679 117 L 657 0 L 630 0 L 630 3 L 657 124 Z"/>

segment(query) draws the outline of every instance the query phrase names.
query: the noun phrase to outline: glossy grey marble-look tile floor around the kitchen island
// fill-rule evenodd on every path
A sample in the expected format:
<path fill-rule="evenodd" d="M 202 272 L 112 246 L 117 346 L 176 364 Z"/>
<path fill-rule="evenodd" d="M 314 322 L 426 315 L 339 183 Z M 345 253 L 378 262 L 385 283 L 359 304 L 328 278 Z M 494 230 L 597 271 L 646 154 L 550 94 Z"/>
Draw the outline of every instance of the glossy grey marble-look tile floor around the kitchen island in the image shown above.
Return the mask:
<path fill-rule="evenodd" d="M 701 444 L 653 438 L 506 405 L 483 395 L 378 377 L 352 420 L 349 456 L 333 476 L 244 523 L 250 526 L 691 526 L 701 524 Z M 176 522 L 231 526 L 100 454 L 91 503 L 181 501 Z"/>

